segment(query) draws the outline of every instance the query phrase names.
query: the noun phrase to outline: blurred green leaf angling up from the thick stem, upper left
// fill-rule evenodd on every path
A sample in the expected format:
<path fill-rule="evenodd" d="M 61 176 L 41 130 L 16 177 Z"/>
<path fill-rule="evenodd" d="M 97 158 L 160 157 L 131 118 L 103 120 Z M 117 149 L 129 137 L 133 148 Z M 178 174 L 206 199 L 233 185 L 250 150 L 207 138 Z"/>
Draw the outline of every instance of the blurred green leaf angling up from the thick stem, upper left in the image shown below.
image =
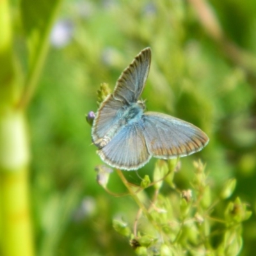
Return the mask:
<path fill-rule="evenodd" d="M 36 84 L 49 49 L 49 33 L 51 32 L 61 0 L 22 0 L 21 17 L 28 44 L 28 74 L 26 88 L 19 106 L 26 107 L 35 92 Z"/>

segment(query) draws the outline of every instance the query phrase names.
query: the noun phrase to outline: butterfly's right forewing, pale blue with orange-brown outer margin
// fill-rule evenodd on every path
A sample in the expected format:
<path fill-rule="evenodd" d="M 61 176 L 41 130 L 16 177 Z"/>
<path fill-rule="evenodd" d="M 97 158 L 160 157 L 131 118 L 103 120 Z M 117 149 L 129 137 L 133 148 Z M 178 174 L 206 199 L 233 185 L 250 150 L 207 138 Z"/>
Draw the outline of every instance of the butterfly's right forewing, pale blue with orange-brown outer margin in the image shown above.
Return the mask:
<path fill-rule="evenodd" d="M 195 125 L 169 115 L 147 112 L 142 119 L 148 152 L 154 157 L 188 156 L 201 150 L 209 141 Z"/>

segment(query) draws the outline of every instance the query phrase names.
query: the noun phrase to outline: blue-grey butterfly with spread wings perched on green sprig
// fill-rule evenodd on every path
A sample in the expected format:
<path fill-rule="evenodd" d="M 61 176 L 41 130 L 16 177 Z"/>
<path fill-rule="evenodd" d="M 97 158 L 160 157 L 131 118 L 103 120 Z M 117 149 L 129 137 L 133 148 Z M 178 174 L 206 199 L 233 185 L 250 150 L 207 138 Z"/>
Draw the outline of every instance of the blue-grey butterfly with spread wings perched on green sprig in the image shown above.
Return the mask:
<path fill-rule="evenodd" d="M 118 78 L 113 93 L 100 104 L 92 125 L 97 154 L 109 166 L 138 170 L 151 157 L 172 159 L 202 150 L 209 138 L 198 127 L 170 115 L 145 112 L 139 100 L 151 62 L 143 49 Z"/>

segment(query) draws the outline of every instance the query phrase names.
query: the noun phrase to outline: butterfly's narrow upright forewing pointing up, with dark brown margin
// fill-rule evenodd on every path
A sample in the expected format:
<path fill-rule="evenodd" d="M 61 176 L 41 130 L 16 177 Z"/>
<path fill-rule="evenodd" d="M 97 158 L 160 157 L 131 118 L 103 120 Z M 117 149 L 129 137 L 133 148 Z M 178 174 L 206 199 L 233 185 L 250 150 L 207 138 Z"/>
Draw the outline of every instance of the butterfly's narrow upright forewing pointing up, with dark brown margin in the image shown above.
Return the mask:
<path fill-rule="evenodd" d="M 113 97 L 129 104 L 137 102 L 145 86 L 151 62 L 151 49 L 143 49 L 118 78 Z"/>

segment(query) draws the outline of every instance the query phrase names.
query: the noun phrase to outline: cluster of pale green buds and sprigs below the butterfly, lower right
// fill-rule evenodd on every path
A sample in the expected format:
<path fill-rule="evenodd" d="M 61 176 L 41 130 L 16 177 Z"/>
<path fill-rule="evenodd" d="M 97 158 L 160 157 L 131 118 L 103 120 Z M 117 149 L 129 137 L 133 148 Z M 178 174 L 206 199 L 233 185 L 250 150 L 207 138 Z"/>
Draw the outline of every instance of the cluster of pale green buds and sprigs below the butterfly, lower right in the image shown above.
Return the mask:
<path fill-rule="evenodd" d="M 154 175 L 161 167 L 163 168 L 163 161 L 158 161 Z M 226 209 L 221 207 L 222 211 L 216 211 L 222 202 L 218 195 L 212 193 L 214 188 L 211 186 L 210 189 L 205 166 L 198 161 L 194 163 L 194 167 L 191 190 L 180 191 L 178 188 L 170 190 L 169 186 L 168 193 L 161 193 L 159 189 L 164 186 L 164 180 L 168 176 L 157 181 L 159 186 L 154 183 L 148 185 L 154 185 L 154 197 L 141 200 L 139 206 L 148 205 L 147 214 L 141 216 L 140 212 L 143 208 L 140 208 L 132 234 L 127 223 L 113 221 L 115 230 L 122 236 L 130 238 L 136 255 L 220 255 L 222 253 L 222 255 L 235 256 L 241 251 L 242 222 L 248 220 L 252 212 L 248 211 L 246 204 L 239 198 L 234 202 L 225 202 Z M 172 171 L 170 170 L 169 173 Z M 230 186 L 235 185 L 229 180 L 225 189 Z M 234 188 L 232 190 L 234 191 Z M 232 192 L 229 191 L 228 195 L 231 194 Z M 147 218 L 147 221 L 143 218 Z"/>

